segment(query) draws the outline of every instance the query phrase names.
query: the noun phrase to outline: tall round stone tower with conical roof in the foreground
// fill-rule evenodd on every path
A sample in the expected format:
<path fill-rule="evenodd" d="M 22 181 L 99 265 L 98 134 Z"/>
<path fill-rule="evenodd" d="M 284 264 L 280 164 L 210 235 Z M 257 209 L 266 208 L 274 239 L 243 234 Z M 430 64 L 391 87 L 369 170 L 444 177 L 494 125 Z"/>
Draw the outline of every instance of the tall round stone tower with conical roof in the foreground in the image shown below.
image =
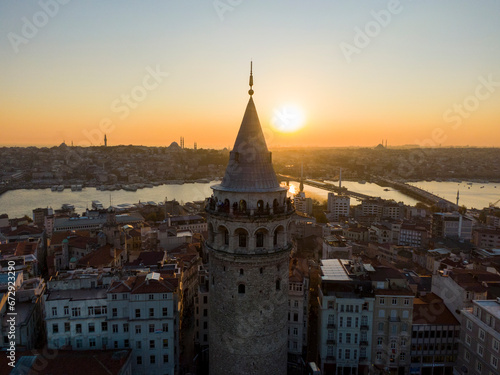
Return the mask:
<path fill-rule="evenodd" d="M 207 200 L 210 375 L 286 375 L 289 225 L 287 189 L 250 99 L 220 185 Z"/>

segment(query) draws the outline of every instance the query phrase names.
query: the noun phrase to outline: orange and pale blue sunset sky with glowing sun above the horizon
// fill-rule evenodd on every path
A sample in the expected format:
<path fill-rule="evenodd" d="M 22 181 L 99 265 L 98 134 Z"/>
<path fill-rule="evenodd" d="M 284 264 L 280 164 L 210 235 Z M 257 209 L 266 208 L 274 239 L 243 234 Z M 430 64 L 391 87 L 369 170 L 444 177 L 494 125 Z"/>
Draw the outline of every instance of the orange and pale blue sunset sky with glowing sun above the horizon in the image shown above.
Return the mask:
<path fill-rule="evenodd" d="M 254 61 L 270 148 L 498 147 L 487 1 L 0 5 L 0 146 L 232 144 Z M 289 132 L 288 132 L 289 131 Z"/>

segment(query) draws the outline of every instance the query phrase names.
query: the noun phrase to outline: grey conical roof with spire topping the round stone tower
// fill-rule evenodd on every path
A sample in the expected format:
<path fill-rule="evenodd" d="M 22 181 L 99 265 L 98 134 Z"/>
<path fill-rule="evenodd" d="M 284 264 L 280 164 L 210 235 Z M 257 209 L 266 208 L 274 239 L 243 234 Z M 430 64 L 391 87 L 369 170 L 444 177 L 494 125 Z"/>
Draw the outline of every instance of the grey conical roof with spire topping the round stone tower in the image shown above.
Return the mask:
<path fill-rule="evenodd" d="M 240 130 L 233 150 L 229 154 L 229 163 L 222 183 L 214 186 L 217 190 L 240 192 L 277 191 L 280 187 L 273 169 L 271 153 L 259 116 L 253 102 L 253 77 L 250 72 L 250 100 L 248 101 Z"/>

